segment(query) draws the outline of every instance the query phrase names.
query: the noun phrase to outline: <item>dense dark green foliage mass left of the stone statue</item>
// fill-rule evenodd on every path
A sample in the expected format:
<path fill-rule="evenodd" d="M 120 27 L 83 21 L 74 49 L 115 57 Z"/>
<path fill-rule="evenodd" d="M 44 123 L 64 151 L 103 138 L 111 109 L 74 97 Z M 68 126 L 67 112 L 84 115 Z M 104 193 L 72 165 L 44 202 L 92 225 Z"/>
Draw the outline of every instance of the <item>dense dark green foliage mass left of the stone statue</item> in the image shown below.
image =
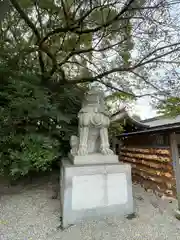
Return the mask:
<path fill-rule="evenodd" d="M 69 151 L 82 95 L 74 87 L 51 92 L 36 76 L 3 66 L 0 75 L 0 174 L 50 170 Z"/>

